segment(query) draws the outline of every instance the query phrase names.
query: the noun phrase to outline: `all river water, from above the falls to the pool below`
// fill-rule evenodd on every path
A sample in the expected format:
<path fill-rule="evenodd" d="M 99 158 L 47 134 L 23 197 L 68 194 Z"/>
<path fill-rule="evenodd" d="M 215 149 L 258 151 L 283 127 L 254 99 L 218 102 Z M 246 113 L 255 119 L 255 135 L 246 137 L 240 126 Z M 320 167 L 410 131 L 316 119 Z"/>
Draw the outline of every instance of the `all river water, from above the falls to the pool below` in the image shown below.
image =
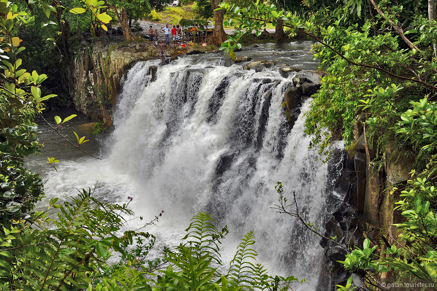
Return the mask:
<path fill-rule="evenodd" d="M 240 54 L 315 69 L 307 53 L 310 45 L 267 44 Z M 275 184 L 281 181 L 288 198 L 295 191 L 307 221 L 321 226 L 331 211 L 326 206 L 332 195 L 327 165 L 308 150 L 302 113 L 292 128 L 284 115 L 283 96 L 294 86 L 292 76 L 284 78 L 275 67 L 260 72 L 225 67 L 222 54 L 205 54 L 158 66 L 152 80 L 149 67 L 158 62 L 139 62 L 125 76 L 113 132 L 96 138 L 83 117 L 62 128 L 70 139 L 73 130 L 90 137 L 83 149 L 102 160 L 68 148 L 41 125 L 46 147 L 38 159 L 61 159 L 57 172 L 30 165 L 47 180 L 46 196 L 66 198 L 76 195 L 75 188 L 90 187 L 103 201 L 127 203 L 132 197 L 130 208 L 144 220 L 130 220 L 130 229 L 163 210 L 159 222 L 144 229 L 157 237 L 159 247 L 179 244 L 190 218 L 207 212 L 217 227 L 227 224 L 231 231 L 223 245 L 225 266 L 240 239 L 253 230 L 258 261 L 270 273 L 305 278 L 308 283 L 295 290 L 315 289 L 323 261 L 319 237 L 271 208 L 278 200 Z M 305 100 L 301 112 L 307 108 Z"/>

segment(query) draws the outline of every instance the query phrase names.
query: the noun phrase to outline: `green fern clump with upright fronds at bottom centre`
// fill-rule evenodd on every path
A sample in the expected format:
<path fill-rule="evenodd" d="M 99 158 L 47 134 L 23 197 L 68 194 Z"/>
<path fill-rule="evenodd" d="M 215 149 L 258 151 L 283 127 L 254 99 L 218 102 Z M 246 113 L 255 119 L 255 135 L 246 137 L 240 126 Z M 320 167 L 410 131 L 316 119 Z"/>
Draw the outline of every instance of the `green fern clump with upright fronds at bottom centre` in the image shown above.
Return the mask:
<path fill-rule="evenodd" d="M 104 272 L 95 277 L 91 289 L 285 291 L 298 281 L 293 276 L 270 276 L 264 266 L 254 263 L 257 253 L 251 248 L 255 244 L 252 232 L 243 238 L 228 273 L 223 274 L 219 271 L 222 263 L 218 245 L 228 233 L 227 228 L 218 231 L 209 215 L 198 213 L 186 231 L 183 243 L 165 248 L 161 257 L 149 261 L 145 256 L 154 246 L 153 236 L 147 235 L 151 238 L 149 244 L 142 238 L 137 240 L 136 247 L 127 250 L 118 264 L 102 267 Z"/>

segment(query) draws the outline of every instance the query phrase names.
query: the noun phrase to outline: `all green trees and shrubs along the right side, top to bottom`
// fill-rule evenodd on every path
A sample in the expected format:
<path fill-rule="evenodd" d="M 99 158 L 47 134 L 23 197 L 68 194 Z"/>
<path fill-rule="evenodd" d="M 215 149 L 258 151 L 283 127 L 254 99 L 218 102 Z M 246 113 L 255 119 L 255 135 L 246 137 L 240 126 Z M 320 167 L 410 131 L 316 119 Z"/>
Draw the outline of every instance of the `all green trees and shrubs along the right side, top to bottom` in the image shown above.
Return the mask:
<path fill-rule="evenodd" d="M 377 278 L 386 272 L 394 278 L 433 282 L 437 277 L 436 3 L 307 0 L 304 4 L 305 18 L 260 1 L 249 9 L 222 4 L 230 12 L 230 24 L 240 27 L 222 49 L 235 55 L 241 36 L 252 30 L 260 35 L 265 22 L 275 26 L 283 22 L 292 33 L 317 42 L 312 52 L 325 76 L 306 113 L 305 132 L 313 137 L 312 147 L 329 155 L 331 140 L 342 136 L 352 150 L 354 128 L 364 124 L 368 145 L 376 152 L 375 167 L 405 161 L 407 156 L 414 160 L 411 180 L 395 185 L 389 194 L 397 197 L 395 210 L 403 216 L 403 222 L 396 224 L 397 237 L 383 237 L 386 244 L 379 254 L 377 246 L 366 241 L 343 263 L 350 271 L 365 273 L 369 284 L 382 289 Z"/>

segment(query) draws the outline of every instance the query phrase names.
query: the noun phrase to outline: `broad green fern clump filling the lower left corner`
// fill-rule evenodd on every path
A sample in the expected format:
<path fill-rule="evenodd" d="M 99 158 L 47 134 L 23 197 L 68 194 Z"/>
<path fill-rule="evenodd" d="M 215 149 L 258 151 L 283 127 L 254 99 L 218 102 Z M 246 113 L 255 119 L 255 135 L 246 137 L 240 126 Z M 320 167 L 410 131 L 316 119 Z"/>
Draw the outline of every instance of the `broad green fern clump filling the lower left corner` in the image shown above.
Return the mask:
<path fill-rule="evenodd" d="M 4 227 L 0 232 L 0 285 L 22 290 L 87 288 L 89 274 L 98 273 L 108 249 L 123 252 L 116 236 L 133 213 L 126 205 L 100 203 L 83 190 L 63 205 L 50 201 L 57 219 L 47 211 L 29 222 Z M 38 228 L 32 227 L 38 223 Z"/>

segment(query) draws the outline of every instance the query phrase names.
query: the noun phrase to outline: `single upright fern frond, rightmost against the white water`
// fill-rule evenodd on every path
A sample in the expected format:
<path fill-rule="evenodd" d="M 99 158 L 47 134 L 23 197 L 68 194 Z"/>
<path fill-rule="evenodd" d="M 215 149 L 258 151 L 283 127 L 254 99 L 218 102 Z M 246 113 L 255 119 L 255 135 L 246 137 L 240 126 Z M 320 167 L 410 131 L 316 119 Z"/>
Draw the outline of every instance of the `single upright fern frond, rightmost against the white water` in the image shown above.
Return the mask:
<path fill-rule="evenodd" d="M 250 285 L 254 274 L 255 265 L 250 260 L 256 260 L 257 252 L 250 248 L 255 244 L 253 231 L 248 232 L 237 248 L 237 253 L 231 261 L 231 266 L 228 271 L 230 283 L 234 286 L 240 284 Z"/>

